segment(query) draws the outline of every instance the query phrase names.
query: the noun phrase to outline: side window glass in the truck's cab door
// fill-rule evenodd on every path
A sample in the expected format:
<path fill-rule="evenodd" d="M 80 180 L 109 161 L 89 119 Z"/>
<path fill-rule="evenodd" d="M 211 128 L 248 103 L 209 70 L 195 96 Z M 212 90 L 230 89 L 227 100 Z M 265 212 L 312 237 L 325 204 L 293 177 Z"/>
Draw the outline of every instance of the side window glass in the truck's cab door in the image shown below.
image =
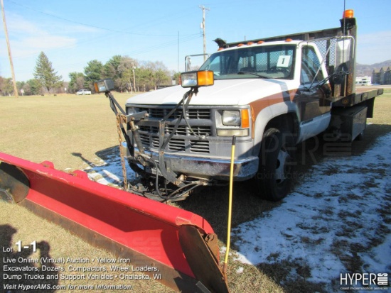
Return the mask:
<path fill-rule="evenodd" d="M 321 67 L 321 62 L 319 62 L 314 48 L 304 46 L 301 51 L 301 84 L 309 84 L 313 80 L 314 82 L 321 82 L 323 80 L 323 72 L 319 70 L 319 67 Z"/>

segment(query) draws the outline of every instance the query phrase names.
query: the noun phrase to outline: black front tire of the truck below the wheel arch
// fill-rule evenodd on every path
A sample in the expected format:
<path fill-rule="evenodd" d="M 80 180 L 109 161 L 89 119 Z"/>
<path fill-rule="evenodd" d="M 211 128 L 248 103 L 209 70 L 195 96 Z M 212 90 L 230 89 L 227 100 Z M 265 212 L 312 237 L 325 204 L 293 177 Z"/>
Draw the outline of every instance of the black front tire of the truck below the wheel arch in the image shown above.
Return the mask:
<path fill-rule="evenodd" d="M 269 128 L 265 131 L 255 175 L 259 196 L 269 201 L 284 199 L 294 177 L 296 147 L 289 131 Z"/>

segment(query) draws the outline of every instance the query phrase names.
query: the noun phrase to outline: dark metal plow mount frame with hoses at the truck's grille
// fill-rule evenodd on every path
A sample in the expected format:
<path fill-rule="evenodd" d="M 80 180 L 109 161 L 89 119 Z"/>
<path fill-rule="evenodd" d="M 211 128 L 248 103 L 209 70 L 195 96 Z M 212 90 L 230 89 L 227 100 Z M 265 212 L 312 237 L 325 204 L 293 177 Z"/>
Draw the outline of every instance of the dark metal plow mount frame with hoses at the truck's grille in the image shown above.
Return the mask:
<path fill-rule="evenodd" d="M 184 79 L 186 79 L 186 77 L 184 77 Z M 108 82 L 109 80 L 110 79 L 104 79 L 95 84 L 103 84 L 103 82 L 111 84 L 111 82 Z M 176 132 L 182 119 L 186 121 L 186 109 L 193 94 L 197 94 L 198 92 L 198 84 L 191 87 L 191 89 L 183 95 L 181 101 L 160 120 L 149 119 L 149 114 L 146 111 L 127 114 L 110 92 L 110 87 L 95 86 L 95 89 L 105 92 L 105 95 L 109 99 L 110 107 L 117 116 L 119 148 L 125 190 L 156 201 L 181 201 L 186 199 L 188 194 L 196 187 L 205 186 L 211 183 L 209 179 L 178 175 L 166 165 L 166 161 L 164 160 L 165 149 L 168 142 L 173 137 L 173 133 Z M 180 106 L 183 108 L 181 116 L 177 119 L 177 123 L 173 126 L 173 130 L 167 134 L 168 118 L 177 111 Z M 142 144 L 139 134 L 139 125 L 152 126 L 159 129 L 159 151 L 157 154 L 147 153 L 144 150 L 144 145 Z M 131 133 L 131 135 L 128 133 Z M 124 149 L 124 142 L 126 143 L 126 149 Z M 129 166 L 136 172 L 136 175 L 139 176 L 139 182 L 136 184 L 132 184 L 127 180 L 126 161 L 129 162 Z"/>

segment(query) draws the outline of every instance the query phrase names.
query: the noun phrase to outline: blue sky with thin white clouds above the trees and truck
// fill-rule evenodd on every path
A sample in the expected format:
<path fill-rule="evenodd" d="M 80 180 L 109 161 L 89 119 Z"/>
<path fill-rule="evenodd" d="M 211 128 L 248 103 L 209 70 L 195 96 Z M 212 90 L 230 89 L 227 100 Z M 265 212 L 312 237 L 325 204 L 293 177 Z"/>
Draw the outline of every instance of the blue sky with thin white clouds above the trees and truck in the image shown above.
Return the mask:
<path fill-rule="evenodd" d="M 358 21 L 358 63 L 391 60 L 390 0 L 3 1 L 18 81 L 33 78 L 40 52 L 65 81 L 87 62 L 105 64 L 114 55 L 161 61 L 181 72 L 186 55 L 203 52 L 200 6 L 208 53 L 218 48 L 215 38 L 235 42 L 338 27 L 345 5 Z M 0 76 L 11 77 L 4 29 Z"/>

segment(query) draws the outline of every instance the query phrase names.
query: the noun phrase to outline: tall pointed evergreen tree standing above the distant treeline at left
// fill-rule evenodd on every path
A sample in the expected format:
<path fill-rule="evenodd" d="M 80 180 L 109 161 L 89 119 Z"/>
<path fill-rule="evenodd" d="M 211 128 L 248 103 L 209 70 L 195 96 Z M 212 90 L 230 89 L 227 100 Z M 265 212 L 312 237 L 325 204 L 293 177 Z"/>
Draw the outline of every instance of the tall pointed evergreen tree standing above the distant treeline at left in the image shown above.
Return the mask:
<path fill-rule="evenodd" d="M 38 79 L 42 87 L 48 90 L 49 94 L 50 89 L 58 89 L 63 85 L 63 81 L 61 80 L 63 77 L 57 75 L 57 72 L 52 67 L 52 63 L 48 60 L 44 52 L 41 52 L 38 56 L 33 75 Z"/>

